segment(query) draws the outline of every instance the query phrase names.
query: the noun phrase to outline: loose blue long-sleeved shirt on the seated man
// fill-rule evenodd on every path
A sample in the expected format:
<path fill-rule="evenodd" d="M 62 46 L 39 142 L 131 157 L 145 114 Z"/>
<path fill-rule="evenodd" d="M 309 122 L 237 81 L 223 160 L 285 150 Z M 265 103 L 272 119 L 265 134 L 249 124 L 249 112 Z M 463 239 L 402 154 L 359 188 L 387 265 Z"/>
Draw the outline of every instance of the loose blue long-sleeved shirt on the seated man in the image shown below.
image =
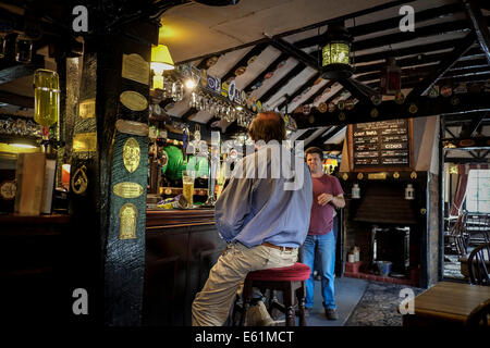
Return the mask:
<path fill-rule="evenodd" d="M 235 165 L 216 203 L 217 228 L 224 240 L 248 248 L 264 241 L 298 248 L 308 233 L 311 173 L 303 158 L 292 158 L 283 146 L 275 146 L 280 156 L 269 148 L 261 147 Z M 294 172 L 278 175 L 278 169 L 287 167 Z"/>

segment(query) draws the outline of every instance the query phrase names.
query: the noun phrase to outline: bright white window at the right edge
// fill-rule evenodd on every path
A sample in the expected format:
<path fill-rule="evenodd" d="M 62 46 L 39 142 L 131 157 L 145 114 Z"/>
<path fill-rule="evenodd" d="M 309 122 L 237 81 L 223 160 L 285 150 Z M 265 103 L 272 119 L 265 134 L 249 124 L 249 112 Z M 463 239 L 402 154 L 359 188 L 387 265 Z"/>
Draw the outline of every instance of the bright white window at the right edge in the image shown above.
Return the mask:
<path fill-rule="evenodd" d="M 466 210 L 471 213 L 490 213 L 490 170 L 469 171 Z"/>

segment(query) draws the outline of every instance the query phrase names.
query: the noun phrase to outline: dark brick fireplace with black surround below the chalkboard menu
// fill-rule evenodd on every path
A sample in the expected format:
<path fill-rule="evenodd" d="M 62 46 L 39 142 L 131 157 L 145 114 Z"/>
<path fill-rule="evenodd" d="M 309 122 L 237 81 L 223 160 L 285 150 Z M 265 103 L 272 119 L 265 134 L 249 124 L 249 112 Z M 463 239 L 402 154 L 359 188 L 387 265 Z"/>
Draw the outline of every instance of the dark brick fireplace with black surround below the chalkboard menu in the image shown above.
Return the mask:
<path fill-rule="evenodd" d="M 405 199 L 407 183 L 418 197 Z M 354 184 L 360 187 L 360 199 L 350 195 Z M 344 275 L 378 282 L 425 286 L 427 272 L 424 182 L 407 178 L 396 181 L 343 181 L 346 192 L 344 209 Z M 347 253 L 360 249 L 358 262 L 347 262 Z M 392 262 L 388 276 L 379 274 L 376 261 Z"/>

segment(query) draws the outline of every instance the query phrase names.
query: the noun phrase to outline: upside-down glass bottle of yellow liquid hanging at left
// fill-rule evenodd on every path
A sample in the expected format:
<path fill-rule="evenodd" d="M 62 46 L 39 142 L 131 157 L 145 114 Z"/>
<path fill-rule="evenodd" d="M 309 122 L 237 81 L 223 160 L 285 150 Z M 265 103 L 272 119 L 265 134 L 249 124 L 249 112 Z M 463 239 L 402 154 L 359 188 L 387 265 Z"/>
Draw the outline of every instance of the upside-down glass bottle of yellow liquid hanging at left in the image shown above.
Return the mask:
<path fill-rule="evenodd" d="M 57 72 L 38 69 L 34 73 L 34 121 L 42 127 L 42 140 L 49 140 L 49 127 L 60 115 L 60 79 Z"/>

